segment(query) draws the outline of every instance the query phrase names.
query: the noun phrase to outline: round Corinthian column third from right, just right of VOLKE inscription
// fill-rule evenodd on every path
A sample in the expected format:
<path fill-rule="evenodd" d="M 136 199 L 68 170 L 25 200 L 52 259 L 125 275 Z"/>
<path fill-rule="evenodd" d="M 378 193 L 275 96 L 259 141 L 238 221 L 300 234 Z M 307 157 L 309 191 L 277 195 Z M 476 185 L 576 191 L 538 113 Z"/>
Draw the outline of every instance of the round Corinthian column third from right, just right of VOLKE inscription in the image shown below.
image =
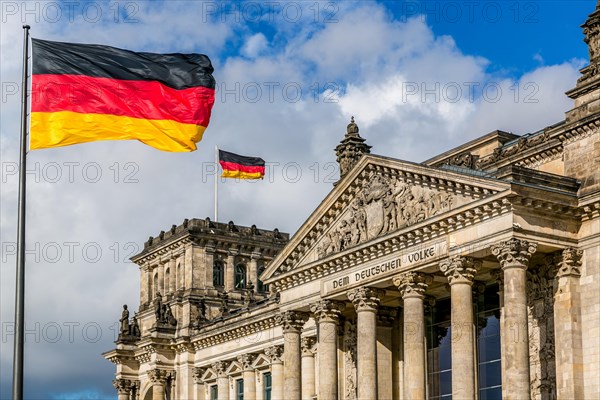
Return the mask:
<path fill-rule="evenodd" d="M 452 324 L 452 398 L 477 398 L 475 347 L 473 346 L 473 278 L 481 261 L 471 257 L 453 257 L 440 263 L 450 284 Z"/>

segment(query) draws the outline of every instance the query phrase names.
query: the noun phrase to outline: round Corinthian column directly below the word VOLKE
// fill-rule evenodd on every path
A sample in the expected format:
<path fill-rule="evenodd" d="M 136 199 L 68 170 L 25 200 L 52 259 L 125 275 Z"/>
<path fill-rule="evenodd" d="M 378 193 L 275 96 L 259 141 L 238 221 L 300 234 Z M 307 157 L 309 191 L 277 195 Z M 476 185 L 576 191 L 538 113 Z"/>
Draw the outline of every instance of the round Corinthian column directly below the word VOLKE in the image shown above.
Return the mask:
<path fill-rule="evenodd" d="M 423 299 L 432 282 L 430 275 L 405 272 L 394 277 L 404 302 L 404 397 L 424 399 L 425 388 L 425 314 Z"/>

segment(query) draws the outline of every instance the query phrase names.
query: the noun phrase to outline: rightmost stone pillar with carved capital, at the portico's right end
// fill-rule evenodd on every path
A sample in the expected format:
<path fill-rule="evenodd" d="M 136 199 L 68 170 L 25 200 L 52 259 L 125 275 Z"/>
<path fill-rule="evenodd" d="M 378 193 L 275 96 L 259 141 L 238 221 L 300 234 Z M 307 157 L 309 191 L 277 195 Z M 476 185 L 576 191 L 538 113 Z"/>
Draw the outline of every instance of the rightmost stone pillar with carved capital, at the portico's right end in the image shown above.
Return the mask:
<path fill-rule="evenodd" d="M 554 346 L 556 358 L 556 396 L 583 399 L 583 349 L 579 277 L 581 256 L 575 249 L 562 251 L 556 272 L 554 295 Z"/>

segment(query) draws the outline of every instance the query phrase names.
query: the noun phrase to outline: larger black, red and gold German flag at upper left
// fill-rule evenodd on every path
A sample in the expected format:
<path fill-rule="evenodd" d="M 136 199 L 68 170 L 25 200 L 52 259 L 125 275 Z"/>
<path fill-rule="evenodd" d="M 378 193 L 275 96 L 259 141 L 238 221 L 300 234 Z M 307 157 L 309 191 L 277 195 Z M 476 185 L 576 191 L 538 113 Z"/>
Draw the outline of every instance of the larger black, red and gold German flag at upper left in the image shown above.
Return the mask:
<path fill-rule="evenodd" d="M 39 39 L 32 49 L 31 149 L 136 139 L 196 150 L 214 104 L 207 56 Z"/>

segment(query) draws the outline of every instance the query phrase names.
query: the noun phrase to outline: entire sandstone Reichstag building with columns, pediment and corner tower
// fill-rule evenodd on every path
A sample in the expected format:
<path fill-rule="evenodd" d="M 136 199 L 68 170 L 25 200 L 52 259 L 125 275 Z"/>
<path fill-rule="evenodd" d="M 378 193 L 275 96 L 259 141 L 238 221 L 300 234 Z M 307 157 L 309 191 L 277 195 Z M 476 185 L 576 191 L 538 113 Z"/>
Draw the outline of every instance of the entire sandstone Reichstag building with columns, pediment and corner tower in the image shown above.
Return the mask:
<path fill-rule="evenodd" d="M 289 235 L 185 220 L 133 257 L 119 400 L 600 398 L 600 7 L 561 123 L 370 154 Z"/>

